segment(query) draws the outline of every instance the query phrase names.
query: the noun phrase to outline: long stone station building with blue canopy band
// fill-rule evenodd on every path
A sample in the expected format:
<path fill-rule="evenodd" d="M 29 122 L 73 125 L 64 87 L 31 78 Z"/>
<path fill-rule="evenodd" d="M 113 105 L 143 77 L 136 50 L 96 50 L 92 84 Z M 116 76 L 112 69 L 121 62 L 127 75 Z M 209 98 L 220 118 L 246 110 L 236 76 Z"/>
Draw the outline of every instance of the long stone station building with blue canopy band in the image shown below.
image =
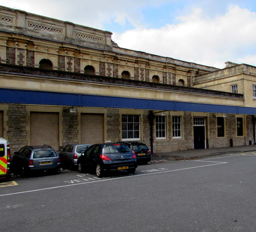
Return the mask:
<path fill-rule="evenodd" d="M 120 140 L 153 153 L 255 143 L 256 67 L 128 50 L 111 35 L 0 6 L 0 136 L 13 151 Z"/>

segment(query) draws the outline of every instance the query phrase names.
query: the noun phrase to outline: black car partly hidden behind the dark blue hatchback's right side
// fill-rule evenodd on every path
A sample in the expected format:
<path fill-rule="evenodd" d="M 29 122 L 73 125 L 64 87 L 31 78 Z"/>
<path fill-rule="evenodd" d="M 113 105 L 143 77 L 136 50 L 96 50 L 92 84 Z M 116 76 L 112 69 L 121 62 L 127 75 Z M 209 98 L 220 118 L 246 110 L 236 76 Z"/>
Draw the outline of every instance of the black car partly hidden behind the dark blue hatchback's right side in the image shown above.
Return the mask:
<path fill-rule="evenodd" d="M 151 161 L 151 152 L 145 143 L 140 143 L 136 141 L 125 141 L 118 143 L 125 143 L 136 155 L 138 163 L 147 164 L 148 162 Z"/>

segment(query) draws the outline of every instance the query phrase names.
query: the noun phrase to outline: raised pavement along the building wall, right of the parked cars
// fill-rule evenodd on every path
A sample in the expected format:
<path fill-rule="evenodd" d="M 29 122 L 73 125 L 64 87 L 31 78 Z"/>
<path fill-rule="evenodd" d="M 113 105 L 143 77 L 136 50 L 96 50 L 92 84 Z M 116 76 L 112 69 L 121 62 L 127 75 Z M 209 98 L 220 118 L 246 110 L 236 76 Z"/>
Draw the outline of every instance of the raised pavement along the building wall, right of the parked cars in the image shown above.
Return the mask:
<path fill-rule="evenodd" d="M 216 147 L 207 149 L 196 149 L 187 151 L 174 151 L 165 153 L 151 154 L 151 160 L 187 160 L 200 159 L 216 155 L 231 155 L 235 153 L 254 152 L 256 155 L 256 145 L 238 146 L 238 147 Z"/>

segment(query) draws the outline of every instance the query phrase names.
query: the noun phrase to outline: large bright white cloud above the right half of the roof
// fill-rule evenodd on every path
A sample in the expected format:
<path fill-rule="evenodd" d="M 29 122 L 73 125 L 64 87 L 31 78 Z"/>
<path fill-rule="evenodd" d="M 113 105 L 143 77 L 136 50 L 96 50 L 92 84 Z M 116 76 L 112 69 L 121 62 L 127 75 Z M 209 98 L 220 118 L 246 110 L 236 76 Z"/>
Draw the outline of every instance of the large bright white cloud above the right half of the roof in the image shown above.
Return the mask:
<path fill-rule="evenodd" d="M 225 67 L 224 62 L 240 62 L 248 52 L 256 53 L 256 14 L 239 6 L 230 6 L 223 16 L 205 19 L 202 9 L 194 9 L 182 16 L 177 25 L 160 29 L 130 30 L 114 34 L 113 40 L 124 48 L 139 50 L 174 59 L 182 59 L 214 67 Z M 240 63 L 245 63 L 240 62 Z"/>

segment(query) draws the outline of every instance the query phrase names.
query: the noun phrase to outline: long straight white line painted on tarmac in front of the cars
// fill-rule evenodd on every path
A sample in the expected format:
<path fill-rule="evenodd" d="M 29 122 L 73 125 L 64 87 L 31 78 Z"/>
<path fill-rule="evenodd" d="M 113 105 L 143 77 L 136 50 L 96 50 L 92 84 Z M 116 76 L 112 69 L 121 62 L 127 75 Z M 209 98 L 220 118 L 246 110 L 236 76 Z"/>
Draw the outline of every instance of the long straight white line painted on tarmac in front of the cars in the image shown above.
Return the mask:
<path fill-rule="evenodd" d="M 116 180 L 116 179 L 122 179 L 122 178 L 131 178 L 131 177 L 136 177 L 136 176 L 145 176 L 145 175 L 152 175 L 152 174 L 159 174 L 159 173 L 169 173 L 169 172 L 182 171 L 182 170 L 188 170 L 188 169 L 196 169 L 196 168 L 202 168 L 202 167 L 208 167 L 208 166 L 220 165 L 220 164 L 225 164 L 225 162 L 219 162 L 219 163 L 214 163 L 214 164 L 210 164 L 210 165 L 202 165 L 202 166 L 197 166 L 197 167 L 189 167 L 189 168 L 184 168 L 184 169 L 175 169 L 175 170 L 168 170 L 168 171 L 161 171 L 161 172 L 154 172 L 154 173 L 120 176 L 120 177 L 116 177 L 116 178 L 101 179 L 101 180 L 95 180 L 95 181 L 91 181 L 91 182 L 82 182 L 82 183 L 77 183 L 77 184 L 68 184 L 68 185 L 55 186 L 55 187 L 49 187 L 49 188 L 40 188 L 40 189 L 35 189 L 35 190 L 23 191 L 23 192 L 13 192 L 13 193 L 8 193 L 8 194 L 2 194 L 0 196 L 10 196 L 10 195 L 15 195 L 15 194 L 22 194 L 22 193 L 28 193 L 28 192 L 37 192 L 37 191 L 42 191 L 42 190 L 54 189 L 54 188 L 64 188 L 64 187 L 70 187 L 70 186 L 75 186 L 75 185 L 79 185 L 79 184 L 91 184 L 91 183 L 95 183 L 95 182 Z"/>

